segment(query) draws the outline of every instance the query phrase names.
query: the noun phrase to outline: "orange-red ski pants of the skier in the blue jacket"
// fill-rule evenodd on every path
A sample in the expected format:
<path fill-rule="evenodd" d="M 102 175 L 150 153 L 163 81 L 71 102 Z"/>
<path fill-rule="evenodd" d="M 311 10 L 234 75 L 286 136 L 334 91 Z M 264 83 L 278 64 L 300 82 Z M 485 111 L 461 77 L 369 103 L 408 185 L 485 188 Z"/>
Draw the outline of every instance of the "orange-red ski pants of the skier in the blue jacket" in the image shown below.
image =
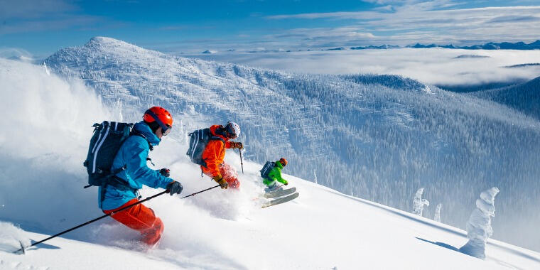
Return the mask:
<path fill-rule="evenodd" d="M 139 200 L 137 199 L 129 200 L 129 202 L 126 202 L 121 207 L 132 205 L 138 201 Z M 109 214 L 110 212 L 119 210 L 121 207 L 113 210 L 103 210 L 103 212 Z M 124 211 L 117 212 L 116 214 L 111 215 L 111 217 L 131 229 L 139 231 L 142 235 L 141 241 L 148 245 L 156 244 L 161 238 L 163 222 L 161 222 L 159 217 L 156 217 L 153 210 L 142 205 L 142 203 Z"/>

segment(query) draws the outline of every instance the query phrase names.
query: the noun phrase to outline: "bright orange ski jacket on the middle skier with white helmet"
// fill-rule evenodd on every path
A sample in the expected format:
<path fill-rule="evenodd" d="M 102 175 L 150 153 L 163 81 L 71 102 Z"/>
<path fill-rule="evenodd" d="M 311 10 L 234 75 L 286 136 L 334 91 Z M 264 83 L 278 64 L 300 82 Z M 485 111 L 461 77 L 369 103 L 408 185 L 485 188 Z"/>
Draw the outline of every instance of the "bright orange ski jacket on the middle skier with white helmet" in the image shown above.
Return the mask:
<path fill-rule="evenodd" d="M 215 177 L 220 174 L 220 164 L 225 159 L 225 148 L 231 148 L 229 138 L 222 134 L 217 134 L 216 130 L 222 128 L 222 125 L 210 126 L 210 133 L 213 136 L 220 137 L 225 141 L 225 144 L 220 140 L 210 140 L 206 145 L 204 151 L 202 151 L 202 161 L 205 161 L 206 166 L 200 166 L 202 172 L 210 177 Z"/>

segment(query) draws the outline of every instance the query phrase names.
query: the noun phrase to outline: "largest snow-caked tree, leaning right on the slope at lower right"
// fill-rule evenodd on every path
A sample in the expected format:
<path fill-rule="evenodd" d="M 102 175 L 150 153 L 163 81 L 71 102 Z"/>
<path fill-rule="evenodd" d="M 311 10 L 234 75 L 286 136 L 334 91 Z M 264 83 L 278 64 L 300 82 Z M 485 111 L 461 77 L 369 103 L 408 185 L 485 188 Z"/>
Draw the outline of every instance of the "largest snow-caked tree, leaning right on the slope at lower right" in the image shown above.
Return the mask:
<path fill-rule="evenodd" d="M 495 217 L 495 196 L 499 193 L 496 187 L 482 191 L 476 200 L 476 209 L 470 214 L 467 222 L 467 238 L 469 242 L 460 248 L 460 252 L 473 257 L 485 259 L 485 243 L 493 234 L 491 218 Z"/>

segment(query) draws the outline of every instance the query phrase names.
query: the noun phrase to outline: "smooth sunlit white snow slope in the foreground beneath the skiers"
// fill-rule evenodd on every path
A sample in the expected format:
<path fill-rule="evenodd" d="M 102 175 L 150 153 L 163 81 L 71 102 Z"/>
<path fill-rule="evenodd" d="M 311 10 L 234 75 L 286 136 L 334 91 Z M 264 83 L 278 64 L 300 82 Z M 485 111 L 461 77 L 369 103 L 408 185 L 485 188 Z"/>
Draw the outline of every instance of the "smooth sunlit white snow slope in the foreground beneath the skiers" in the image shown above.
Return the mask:
<path fill-rule="evenodd" d="M 247 171 L 255 173 L 257 168 L 250 164 Z M 196 210 L 190 201 L 156 199 L 156 212 L 165 217 L 167 229 L 160 247 L 149 252 L 129 252 L 118 246 L 61 238 L 39 249 L 30 249 L 26 255 L 9 254 L 4 248 L 0 251 L 0 269 L 29 269 L 31 266 L 50 270 L 540 267 L 539 253 L 495 240 L 487 245 L 485 261 L 469 257 L 452 250 L 467 241 L 465 232 L 460 229 L 343 195 L 299 178 L 288 176 L 288 179 L 300 190 L 301 197 L 286 205 L 252 209 L 234 222 Z M 172 222 L 173 213 L 167 212 L 166 207 L 191 215 L 188 220 L 182 218 L 188 215 L 186 213 Z M 193 231 L 182 232 L 186 228 Z M 216 232 L 215 228 L 220 229 Z M 178 234 L 183 237 L 177 237 Z M 198 234 L 205 236 L 198 239 Z M 46 237 L 35 233 L 23 235 L 32 239 Z M 193 239 L 184 239 L 187 235 Z"/>

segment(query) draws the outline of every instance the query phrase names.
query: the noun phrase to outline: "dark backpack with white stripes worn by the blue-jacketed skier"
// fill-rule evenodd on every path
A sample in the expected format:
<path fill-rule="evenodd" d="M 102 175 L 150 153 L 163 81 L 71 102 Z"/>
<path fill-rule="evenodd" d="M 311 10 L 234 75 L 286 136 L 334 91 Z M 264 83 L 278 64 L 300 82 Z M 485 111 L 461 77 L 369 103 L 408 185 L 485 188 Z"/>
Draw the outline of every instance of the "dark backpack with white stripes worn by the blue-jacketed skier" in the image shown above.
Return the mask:
<path fill-rule="evenodd" d="M 102 124 L 94 124 L 94 135 L 90 139 L 88 155 L 83 163 L 88 173 L 88 185 L 85 188 L 114 185 L 117 188 L 132 189 L 125 180 L 115 176 L 120 171 L 124 171 L 125 166 L 117 171 L 110 171 L 112 161 L 117 156 L 120 146 L 131 134 L 132 126 L 131 123 L 114 121 L 103 121 Z"/>

